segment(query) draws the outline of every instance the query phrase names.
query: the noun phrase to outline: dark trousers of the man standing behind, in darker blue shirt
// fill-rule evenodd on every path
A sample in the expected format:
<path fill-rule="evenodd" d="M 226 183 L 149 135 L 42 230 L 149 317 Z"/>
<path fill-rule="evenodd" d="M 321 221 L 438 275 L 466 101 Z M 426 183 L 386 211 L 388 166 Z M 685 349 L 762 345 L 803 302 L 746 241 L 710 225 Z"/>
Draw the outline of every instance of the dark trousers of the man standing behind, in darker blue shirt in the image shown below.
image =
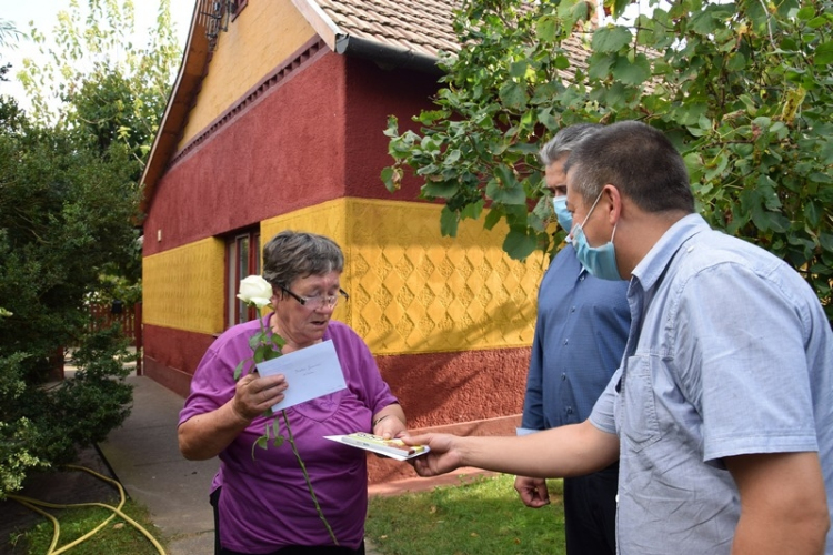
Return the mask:
<path fill-rule="evenodd" d="M 564 478 L 568 555 L 615 555 L 619 463 L 576 478 Z"/>

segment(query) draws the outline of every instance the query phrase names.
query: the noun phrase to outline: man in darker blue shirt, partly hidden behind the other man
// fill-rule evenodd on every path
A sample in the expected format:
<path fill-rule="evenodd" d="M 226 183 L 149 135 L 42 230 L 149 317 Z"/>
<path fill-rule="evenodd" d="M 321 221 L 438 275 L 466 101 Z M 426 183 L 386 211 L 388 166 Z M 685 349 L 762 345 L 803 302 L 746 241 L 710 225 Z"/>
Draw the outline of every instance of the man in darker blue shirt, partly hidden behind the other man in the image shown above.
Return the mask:
<path fill-rule="evenodd" d="M 546 189 L 559 223 L 572 229 L 566 211 L 564 162 L 570 151 L 603 125 L 582 123 L 559 131 L 540 152 Z M 590 416 L 622 359 L 631 313 L 628 282 L 593 278 L 572 244 L 546 270 L 538 293 L 535 339 L 519 434 L 576 424 Z M 619 464 L 564 480 L 568 555 L 615 555 Z M 550 503 L 544 478 L 518 476 L 515 490 L 526 506 Z"/>

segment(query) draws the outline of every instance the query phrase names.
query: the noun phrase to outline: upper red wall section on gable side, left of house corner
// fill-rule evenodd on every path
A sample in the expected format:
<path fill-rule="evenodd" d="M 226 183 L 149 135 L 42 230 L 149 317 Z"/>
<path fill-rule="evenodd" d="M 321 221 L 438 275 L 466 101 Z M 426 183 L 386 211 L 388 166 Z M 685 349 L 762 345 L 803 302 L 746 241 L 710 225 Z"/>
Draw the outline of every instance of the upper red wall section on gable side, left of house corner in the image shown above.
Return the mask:
<path fill-rule="evenodd" d="M 344 59 L 310 61 L 167 171 L 145 256 L 344 196 Z"/>

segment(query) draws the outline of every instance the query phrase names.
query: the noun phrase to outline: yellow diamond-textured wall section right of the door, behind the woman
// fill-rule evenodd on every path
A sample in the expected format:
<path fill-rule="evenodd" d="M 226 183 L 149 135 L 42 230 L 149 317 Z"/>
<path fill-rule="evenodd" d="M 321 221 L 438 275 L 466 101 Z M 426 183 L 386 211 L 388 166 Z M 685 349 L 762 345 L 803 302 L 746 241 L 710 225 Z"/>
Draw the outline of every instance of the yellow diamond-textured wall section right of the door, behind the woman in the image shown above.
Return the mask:
<path fill-rule="evenodd" d="M 263 222 L 263 241 L 282 229 L 312 231 L 344 250 L 350 301 L 338 320 L 377 355 L 529 346 L 543 254 L 525 263 L 501 245 L 506 230 L 466 221 L 440 236 L 435 204 L 342 199 Z"/>

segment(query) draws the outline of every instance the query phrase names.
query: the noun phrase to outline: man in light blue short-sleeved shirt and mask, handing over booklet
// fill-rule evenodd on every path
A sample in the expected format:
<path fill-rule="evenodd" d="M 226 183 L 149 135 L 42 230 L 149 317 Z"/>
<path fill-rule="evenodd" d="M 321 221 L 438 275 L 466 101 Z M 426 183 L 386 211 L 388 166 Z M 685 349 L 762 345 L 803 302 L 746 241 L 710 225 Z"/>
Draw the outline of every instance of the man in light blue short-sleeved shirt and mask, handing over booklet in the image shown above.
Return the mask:
<path fill-rule="evenodd" d="M 619 553 L 833 554 L 833 333 L 807 283 L 694 214 L 682 158 L 643 123 L 573 150 L 568 208 L 585 268 L 630 280 L 619 371 L 581 424 L 410 437 L 432 450 L 416 471 L 571 476 L 619 456 Z"/>

